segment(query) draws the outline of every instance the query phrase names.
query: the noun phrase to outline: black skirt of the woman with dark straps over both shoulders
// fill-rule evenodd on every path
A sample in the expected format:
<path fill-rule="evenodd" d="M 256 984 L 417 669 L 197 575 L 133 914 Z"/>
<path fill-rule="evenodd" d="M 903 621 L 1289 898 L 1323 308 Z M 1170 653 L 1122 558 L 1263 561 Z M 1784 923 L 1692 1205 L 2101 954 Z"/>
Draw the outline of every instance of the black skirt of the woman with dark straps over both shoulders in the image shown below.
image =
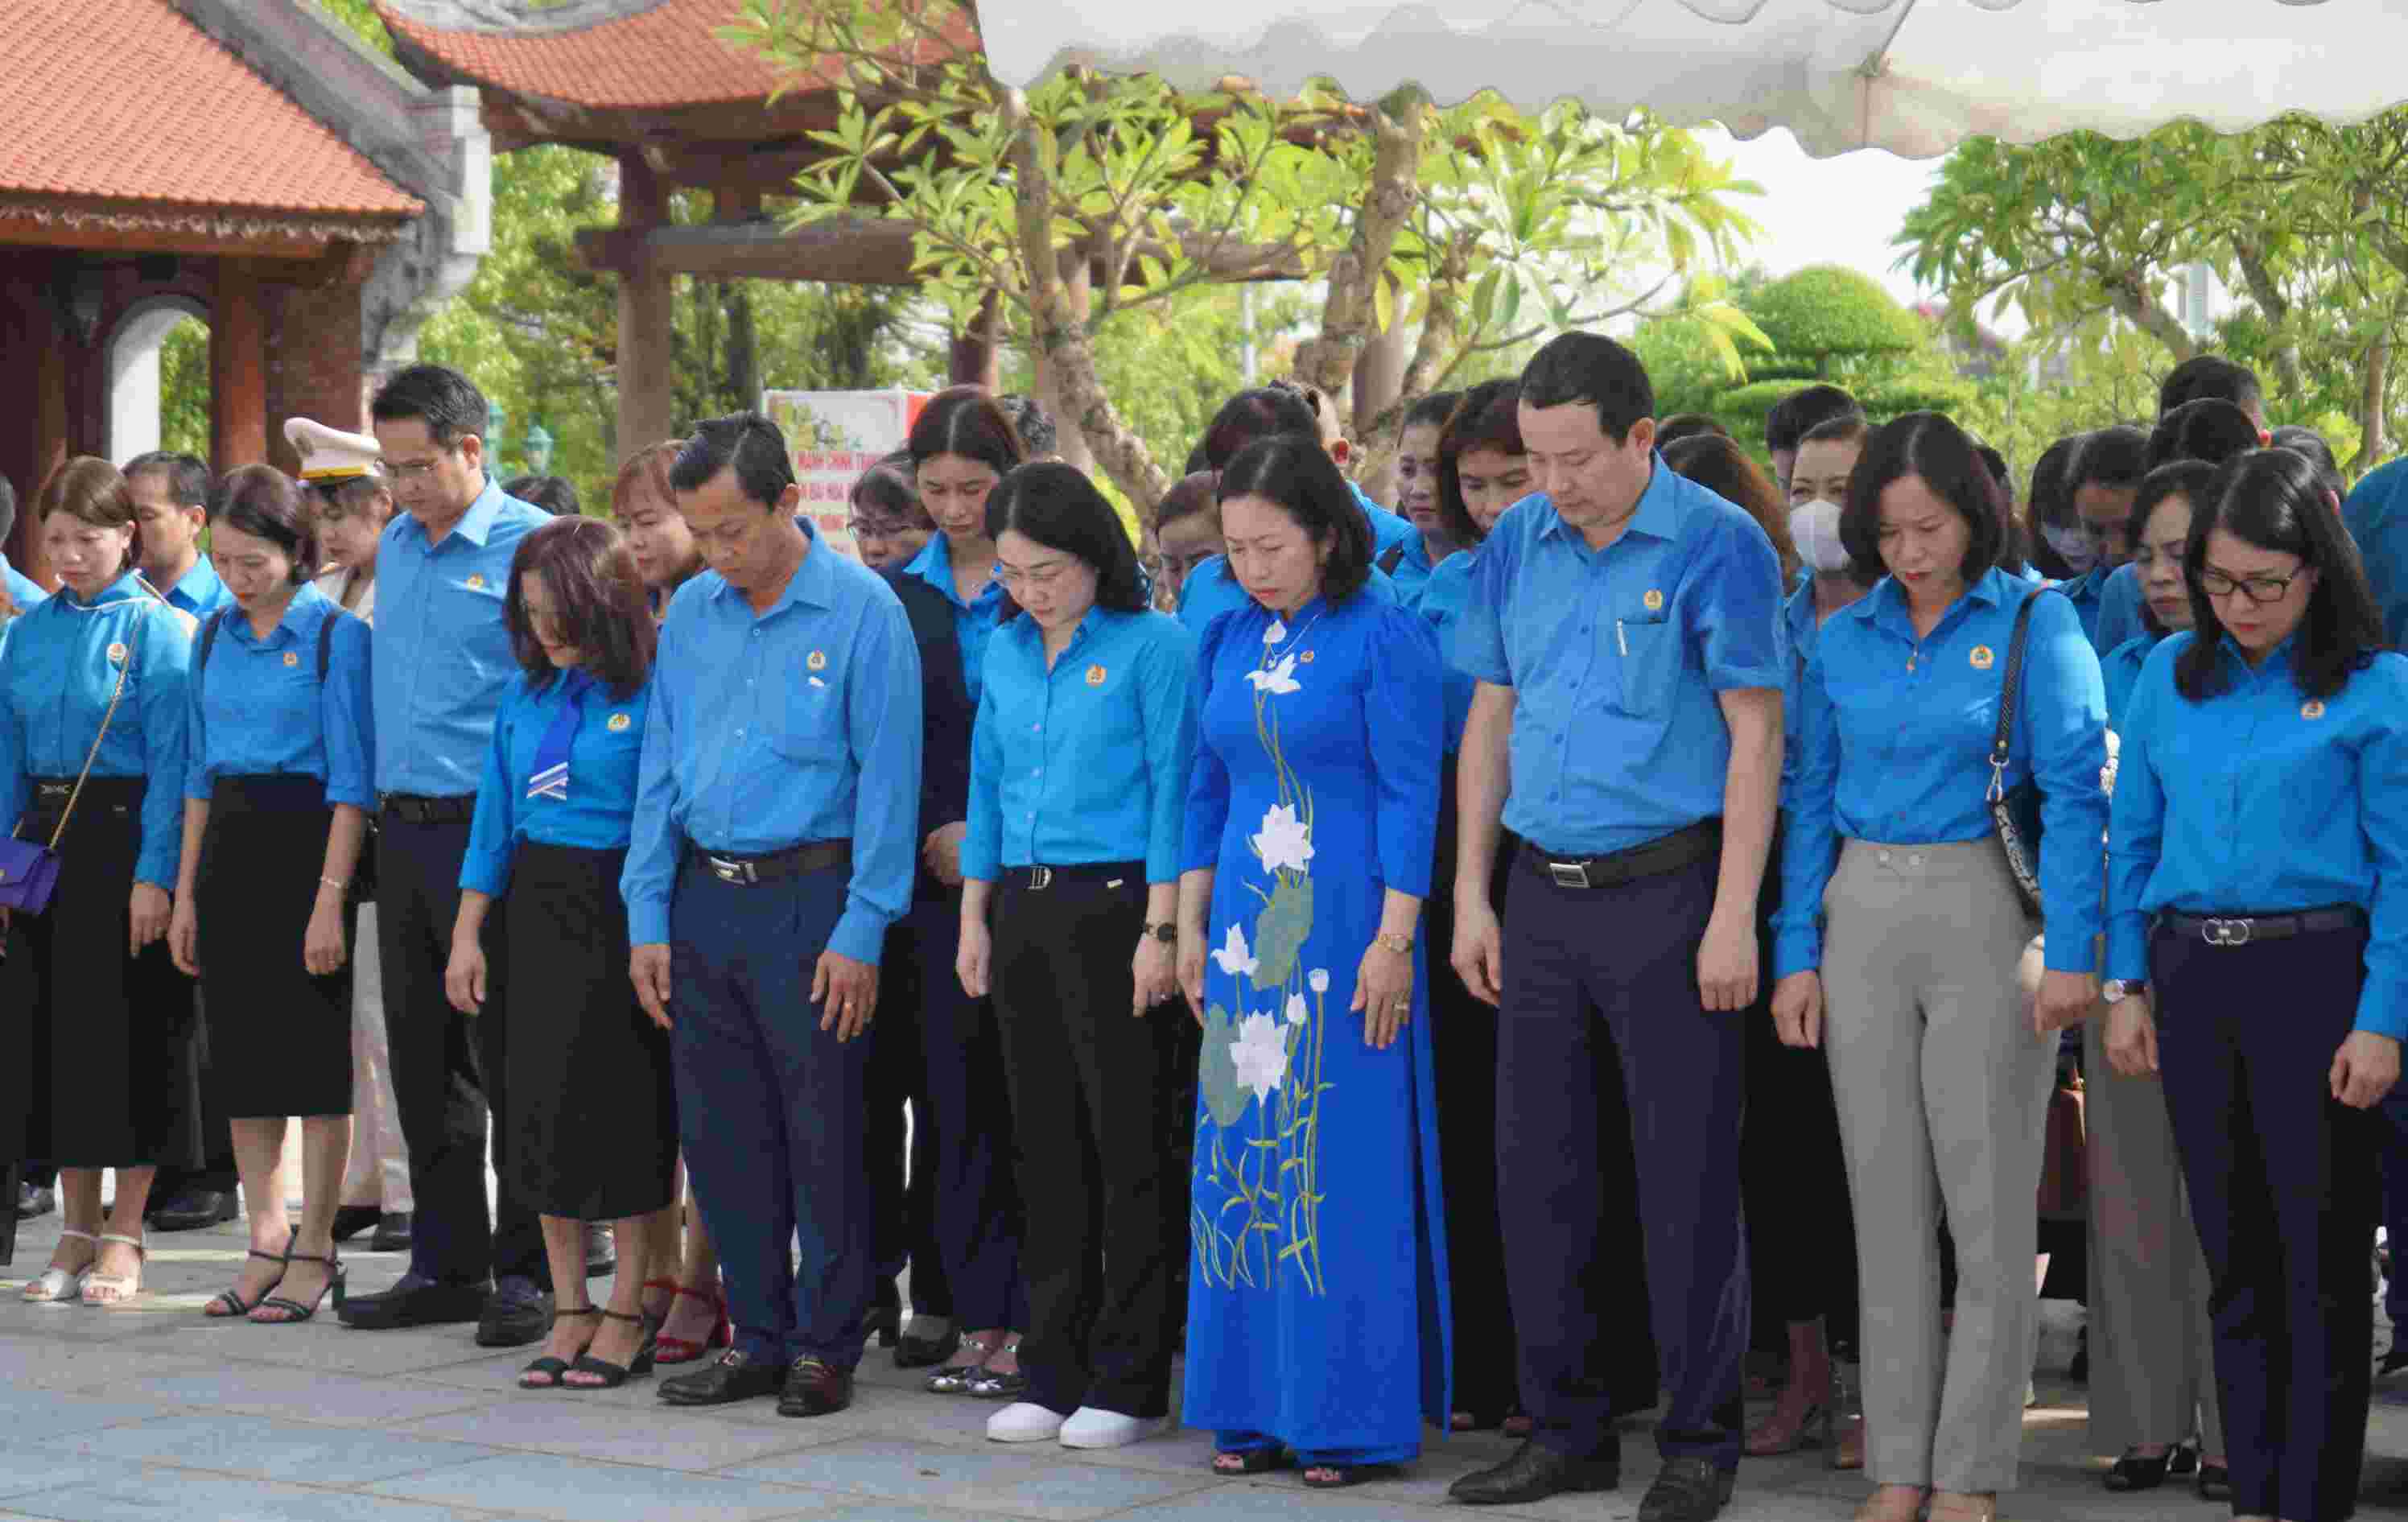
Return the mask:
<path fill-rule="evenodd" d="M 323 978 L 301 963 L 332 821 L 318 778 L 209 792 L 193 908 L 209 1091 L 229 1120 L 352 1113 L 352 963 Z"/>

